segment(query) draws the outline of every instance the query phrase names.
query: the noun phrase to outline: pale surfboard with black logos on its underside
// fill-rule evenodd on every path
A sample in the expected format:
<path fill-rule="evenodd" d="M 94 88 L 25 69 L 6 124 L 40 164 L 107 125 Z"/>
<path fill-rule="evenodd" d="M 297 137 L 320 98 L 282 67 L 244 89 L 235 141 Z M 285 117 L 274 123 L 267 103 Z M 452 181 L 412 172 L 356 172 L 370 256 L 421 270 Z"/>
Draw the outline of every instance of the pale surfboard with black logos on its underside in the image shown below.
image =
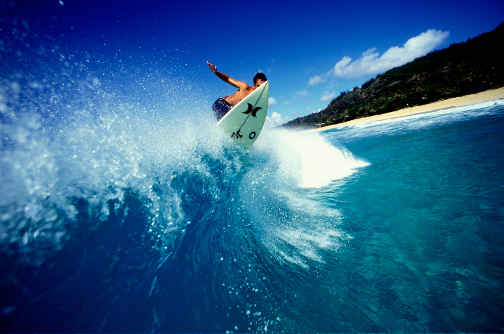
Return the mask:
<path fill-rule="evenodd" d="M 268 81 L 238 102 L 217 123 L 232 141 L 249 148 L 259 137 L 268 111 Z"/>

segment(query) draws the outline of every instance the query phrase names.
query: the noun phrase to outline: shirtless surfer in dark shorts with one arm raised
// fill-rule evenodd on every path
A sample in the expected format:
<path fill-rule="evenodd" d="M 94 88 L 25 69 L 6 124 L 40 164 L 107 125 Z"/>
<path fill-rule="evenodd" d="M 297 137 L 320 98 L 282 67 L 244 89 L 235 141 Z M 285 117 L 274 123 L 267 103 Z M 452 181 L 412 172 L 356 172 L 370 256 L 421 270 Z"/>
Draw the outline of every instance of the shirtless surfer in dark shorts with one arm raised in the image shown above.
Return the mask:
<path fill-rule="evenodd" d="M 238 102 L 243 100 L 245 96 L 252 93 L 256 88 L 261 86 L 266 82 L 266 76 L 263 73 L 258 73 L 254 77 L 254 86 L 250 87 L 243 81 L 236 81 L 234 79 L 229 78 L 227 74 L 217 72 L 217 67 L 212 65 L 207 61 L 208 68 L 212 71 L 213 74 L 217 75 L 220 79 L 227 82 L 228 84 L 238 88 L 238 90 L 233 94 L 226 97 L 218 98 L 212 106 L 212 110 L 214 111 L 215 118 L 220 120 L 224 115 L 234 107 Z"/>

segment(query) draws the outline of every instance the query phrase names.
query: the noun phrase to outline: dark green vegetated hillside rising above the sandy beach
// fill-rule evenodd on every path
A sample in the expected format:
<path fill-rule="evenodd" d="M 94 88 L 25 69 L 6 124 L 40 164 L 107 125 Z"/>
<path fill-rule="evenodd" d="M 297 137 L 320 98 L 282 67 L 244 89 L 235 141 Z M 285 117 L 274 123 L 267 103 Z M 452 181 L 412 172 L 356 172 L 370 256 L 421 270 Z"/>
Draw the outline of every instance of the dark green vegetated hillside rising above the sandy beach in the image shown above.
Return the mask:
<path fill-rule="evenodd" d="M 432 51 L 341 92 L 326 109 L 282 127 L 314 128 L 504 86 L 504 24 Z"/>

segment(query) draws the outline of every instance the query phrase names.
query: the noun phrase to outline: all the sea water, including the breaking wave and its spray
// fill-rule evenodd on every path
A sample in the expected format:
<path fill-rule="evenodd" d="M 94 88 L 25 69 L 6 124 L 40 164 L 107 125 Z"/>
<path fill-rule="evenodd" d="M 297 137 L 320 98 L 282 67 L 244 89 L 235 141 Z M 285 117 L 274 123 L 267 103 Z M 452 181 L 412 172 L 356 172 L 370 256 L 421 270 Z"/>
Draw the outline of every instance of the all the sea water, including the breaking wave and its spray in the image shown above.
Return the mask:
<path fill-rule="evenodd" d="M 9 22 L 2 331 L 504 330 L 504 101 L 241 151 L 177 54 Z"/>

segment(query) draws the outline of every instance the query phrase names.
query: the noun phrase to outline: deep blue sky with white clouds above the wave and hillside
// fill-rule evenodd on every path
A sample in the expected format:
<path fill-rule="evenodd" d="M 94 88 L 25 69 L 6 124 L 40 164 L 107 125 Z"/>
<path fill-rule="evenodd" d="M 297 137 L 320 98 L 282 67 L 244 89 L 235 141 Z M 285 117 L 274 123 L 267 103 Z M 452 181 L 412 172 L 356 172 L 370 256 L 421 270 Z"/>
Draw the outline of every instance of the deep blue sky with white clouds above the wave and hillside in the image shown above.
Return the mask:
<path fill-rule="evenodd" d="M 71 29 L 97 53 L 115 54 L 108 61 L 141 50 L 135 54 L 150 55 L 152 66 L 182 66 L 198 78 L 198 96 L 209 107 L 234 89 L 207 60 L 250 86 L 256 71 L 264 72 L 270 125 L 324 109 L 342 91 L 504 21 L 502 0 L 59 2 L 17 4 L 32 22 Z M 156 56 L 169 52 L 175 65 Z"/>

